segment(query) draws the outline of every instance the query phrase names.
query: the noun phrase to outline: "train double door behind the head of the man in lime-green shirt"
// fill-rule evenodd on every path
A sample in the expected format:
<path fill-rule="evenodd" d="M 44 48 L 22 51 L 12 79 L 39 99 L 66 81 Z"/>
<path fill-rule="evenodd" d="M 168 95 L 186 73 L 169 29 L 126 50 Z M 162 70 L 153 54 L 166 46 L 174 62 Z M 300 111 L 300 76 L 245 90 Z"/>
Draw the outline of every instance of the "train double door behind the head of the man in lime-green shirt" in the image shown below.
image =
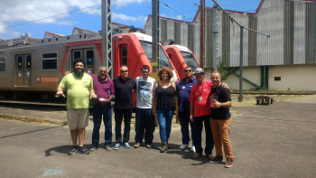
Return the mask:
<path fill-rule="evenodd" d="M 76 59 L 81 59 L 85 62 L 86 72 L 93 72 L 92 70 L 94 68 L 95 63 L 95 54 L 93 48 L 73 50 L 71 52 L 71 69 L 73 68 L 72 61 L 75 61 Z"/>

